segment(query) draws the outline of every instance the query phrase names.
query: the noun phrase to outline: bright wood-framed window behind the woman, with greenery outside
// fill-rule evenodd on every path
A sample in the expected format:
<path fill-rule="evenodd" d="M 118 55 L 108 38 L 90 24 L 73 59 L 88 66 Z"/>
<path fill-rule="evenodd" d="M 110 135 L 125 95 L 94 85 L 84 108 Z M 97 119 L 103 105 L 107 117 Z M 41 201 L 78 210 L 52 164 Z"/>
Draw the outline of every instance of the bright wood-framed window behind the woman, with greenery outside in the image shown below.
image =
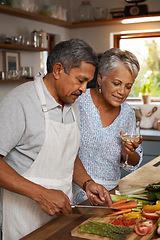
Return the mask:
<path fill-rule="evenodd" d="M 140 72 L 129 98 L 141 97 L 142 84 L 150 87 L 152 101 L 160 101 L 160 32 L 114 35 L 114 46 L 133 52 L 140 63 Z"/>

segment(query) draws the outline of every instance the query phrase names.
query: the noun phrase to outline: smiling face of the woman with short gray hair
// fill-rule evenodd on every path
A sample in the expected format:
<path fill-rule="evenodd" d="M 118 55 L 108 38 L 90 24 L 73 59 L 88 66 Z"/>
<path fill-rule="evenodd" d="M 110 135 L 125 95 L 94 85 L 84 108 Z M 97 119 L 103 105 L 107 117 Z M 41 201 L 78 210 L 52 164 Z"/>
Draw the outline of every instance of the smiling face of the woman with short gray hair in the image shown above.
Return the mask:
<path fill-rule="evenodd" d="M 118 107 L 128 97 L 134 79 L 126 67 L 120 66 L 103 78 L 99 73 L 98 83 L 102 87 L 102 94 L 105 100 L 112 106 Z"/>

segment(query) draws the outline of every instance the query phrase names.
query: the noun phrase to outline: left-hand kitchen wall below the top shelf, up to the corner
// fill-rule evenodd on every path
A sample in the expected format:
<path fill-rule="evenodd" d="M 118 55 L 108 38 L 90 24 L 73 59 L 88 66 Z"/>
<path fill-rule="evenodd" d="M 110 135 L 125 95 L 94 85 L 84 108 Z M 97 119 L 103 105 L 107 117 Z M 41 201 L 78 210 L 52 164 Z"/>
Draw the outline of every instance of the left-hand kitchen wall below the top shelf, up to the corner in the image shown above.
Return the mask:
<path fill-rule="evenodd" d="M 43 29 L 48 33 L 55 34 L 55 41 L 66 40 L 70 38 L 70 32 L 66 28 L 53 26 L 51 24 L 40 23 L 32 20 L 18 18 L 0 13 L 0 33 L 7 36 L 28 36 L 34 29 L 40 31 Z M 41 71 L 40 53 L 21 52 L 21 66 L 33 66 L 34 76 Z M 3 69 L 2 52 L 0 52 L 0 71 Z M 21 84 L 20 82 L 0 82 L 0 99 L 2 99 L 10 90 Z"/>

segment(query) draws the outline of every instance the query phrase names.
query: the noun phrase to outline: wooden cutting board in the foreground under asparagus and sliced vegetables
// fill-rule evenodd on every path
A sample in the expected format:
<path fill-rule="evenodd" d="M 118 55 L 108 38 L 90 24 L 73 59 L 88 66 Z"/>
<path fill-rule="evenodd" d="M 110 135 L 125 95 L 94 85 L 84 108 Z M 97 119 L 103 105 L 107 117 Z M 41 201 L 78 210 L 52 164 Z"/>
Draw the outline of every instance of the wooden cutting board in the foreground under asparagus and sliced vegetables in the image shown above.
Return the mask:
<path fill-rule="evenodd" d="M 104 217 L 91 217 L 91 218 L 87 219 L 86 221 L 84 221 L 82 224 L 87 223 L 89 220 L 93 220 L 93 221 L 96 221 L 96 222 L 103 222 L 103 223 L 111 223 L 115 218 L 118 218 L 118 217 L 122 217 L 122 215 L 121 216 L 119 215 L 119 216 L 116 216 L 116 217 L 106 217 L 106 216 L 104 216 Z M 136 223 L 138 223 L 139 221 L 140 221 L 140 219 L 136 219 Z M 76 228 L 74 228 L 71 231 L 71 235 L 73 237 L 79 237 L 79 238 L 84 238 L 84 239 L 92 239 L 92 240 L 109 240 L 110 239 L 110 238 L 107 238 L 107 237 L 101 237 L 101 236 L 94 235 L 94 234 L 78 232 L 79 226 L 80 225 L 78 225 Z M 140 240 L 140 239 L 141 240 L 150 240 L 153 237 L 156 229 L 157 229 L 157 222 L 155 221 L 154 222 L 154 231 L 151 234 L 148 234 L 146 236 L 138 236 L 135 232 L 133 232 L 133 233 L 127 235 L 126 240 Z"/>

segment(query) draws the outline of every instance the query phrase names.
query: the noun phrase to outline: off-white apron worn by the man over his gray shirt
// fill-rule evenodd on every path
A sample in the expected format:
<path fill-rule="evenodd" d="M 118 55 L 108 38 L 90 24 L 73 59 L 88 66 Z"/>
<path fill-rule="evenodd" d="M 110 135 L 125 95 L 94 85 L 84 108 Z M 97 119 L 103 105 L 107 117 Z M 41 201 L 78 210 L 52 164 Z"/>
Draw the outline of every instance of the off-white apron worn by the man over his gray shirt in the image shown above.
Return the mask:
<path fill-rule="evenodd" d="M 80 145 L 74 110 L 72 108 L 73 123 L 51 121 L 40 78 L 35 80 L 35 85 L 45 115 L 45 140 L 36 160 L 23 176 L 46 188 L 62 190 L 72 201 L 72 175 Z M 3 240 L 18 240 L 52 218 L 34 200 L 3 191 Z"/>

